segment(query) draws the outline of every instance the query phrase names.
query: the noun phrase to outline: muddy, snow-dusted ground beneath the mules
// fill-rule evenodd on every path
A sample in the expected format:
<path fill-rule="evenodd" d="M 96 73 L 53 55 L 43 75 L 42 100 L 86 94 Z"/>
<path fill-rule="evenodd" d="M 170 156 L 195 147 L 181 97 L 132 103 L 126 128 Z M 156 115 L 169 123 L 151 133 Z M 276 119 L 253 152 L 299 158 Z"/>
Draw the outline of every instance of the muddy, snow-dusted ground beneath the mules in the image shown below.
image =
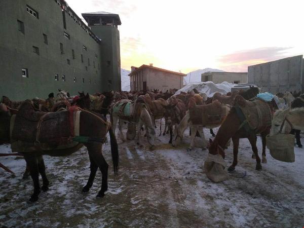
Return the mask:
<path fill-rule="evenodd" d="M 208 129 L 205 133 L 210 137 Z M 110 146 L 105 144 L 109 187 L 103 199 L 95 198 L 101 185 L 99 171 L 90 192 L 81 193 L 90 173 L 85 147 L 68 157 L 44 156 L 50 189 L 33 204 L 27 203 L 32 181 L 22 180 L 24 160 L 0 157 L 0 162 L 16 173 L 14 177 L 0 170 L 0 226 L 303 226 L 304 149 L 295 147 L 294 163 L 276 161 L 267 150 L 268 163 L 256 171 L 250 144 L 241 139 L 236 171 L 227 180 L 213 183 L 204 173 L 207 150 L 187 151 L 188 130 L 184 137 L 183 144 L 174 148 L 168 144 L 169 135 L 159 136 L 156 149 L 151 151 L 133 141 L 123 143 L 118 136 L 118 176 L 113 175 Z M 145 139 L 143 142 L 147 145 Z M 0 148 L 1 153 L 10 152 L 8 145 Z M 258 148 L 260 151 L 259 138 Z M 226 155 L 230 165 L 232 146 Z M 245 171 L 247 175 L 242 177 Z"/>

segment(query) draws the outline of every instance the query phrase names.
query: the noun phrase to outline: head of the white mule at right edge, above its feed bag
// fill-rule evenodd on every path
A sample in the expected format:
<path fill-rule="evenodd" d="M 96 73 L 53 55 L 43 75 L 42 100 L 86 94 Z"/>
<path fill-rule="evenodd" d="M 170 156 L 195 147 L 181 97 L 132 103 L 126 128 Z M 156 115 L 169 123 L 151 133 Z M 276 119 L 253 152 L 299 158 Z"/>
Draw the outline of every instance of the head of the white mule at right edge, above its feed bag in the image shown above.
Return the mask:
<path fill-rule="evenodd" d="M 271 122 L 271 129 L 270 129 L 270 134 L 269 135 L 277 135 L 280 133 L 280 129 L 281 126 L 288 114 L 288 112 L 290 111 L 289 108 L 285 109 L 285 110 L 277 110 L 274 114 L 273 120 Z M 289 126 L 289 124 L 285 121 L 284 126 L 282 128 L 282 132 L 283 133 L 289 133 L 291 131 L 291 127 Z"/>

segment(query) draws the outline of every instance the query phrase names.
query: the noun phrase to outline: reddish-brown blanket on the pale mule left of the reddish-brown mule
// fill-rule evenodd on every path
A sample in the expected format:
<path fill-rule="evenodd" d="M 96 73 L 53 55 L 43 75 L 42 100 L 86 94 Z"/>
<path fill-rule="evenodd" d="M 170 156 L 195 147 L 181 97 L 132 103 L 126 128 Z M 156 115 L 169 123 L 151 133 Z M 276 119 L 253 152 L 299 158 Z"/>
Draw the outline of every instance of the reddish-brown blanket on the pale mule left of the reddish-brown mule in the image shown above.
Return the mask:
<path fill-rule="evenodd" d="M 218 124 L 227 115 L 224 110 L 225 108 L 219 101 L 213 101 L 206 105 L 196 105 L 189 109 L 189 121 L 195 125 L 203 126 Z"/>

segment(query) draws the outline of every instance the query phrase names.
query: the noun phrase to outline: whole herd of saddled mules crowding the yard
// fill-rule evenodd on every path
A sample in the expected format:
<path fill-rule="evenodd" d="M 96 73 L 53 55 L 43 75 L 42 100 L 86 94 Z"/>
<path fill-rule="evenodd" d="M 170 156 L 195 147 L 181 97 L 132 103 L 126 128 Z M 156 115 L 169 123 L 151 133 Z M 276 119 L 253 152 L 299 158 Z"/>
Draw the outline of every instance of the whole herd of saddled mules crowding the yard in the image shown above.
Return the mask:
<path fill-rule="evenodd" d="M 91 162 L 91 173 L 87 184 L 83 187 L 83 192 L 89 191 L 99 168 L 102 173 L 102 184 L 97 197 L 103 197 L 104 192 L 107 191 L 108 164 L 102 156 L 102 143 L 109 132 L 113 169 L 117 173 L 119 153 L 115 128 L 118 122 L 120 138 L 123 141 L 135 140 L 139 146 L 143 146 L 141 135 L 144 134 L 151 149 L 156 148 L 155 121 L 161 119 L 165 120 L 165 126 L 162 131 L 162 121 L 160 121 L 159 137 L 162 137 L 161 134 L 170 134 L 169 143 L 174 147 L 181 143 L 188 127 L 191 134 L 188 150 L 194 148 L 195 138 L 201 137 L 202 149 L 208 148 L 210 155 L 220 155 L 224 158 L 224 149 L 229 146 L 232 139 L 234 159 L 229 171 L 233 171 L 237 166 L 240 138 L 248 138 L 253 158 L 256 159 L 256 170 L 261 169 L 261 162 L 267 162 L 265 154 L 267 135 L 287 134 L 293 131 L 296 133 L 296 144 L 302 147 L 299 133 L 300 130 L 304 130 L 303 94 L 297 97 L 290 92 L 277 94 L 278 96 L 271 94 L 273 99 L 264 100 L 263 94 L 259 93 L 259 89 L 254 86 L 250 86 L 246 91 L 233 91 L 226 95 L 215 93 L 212 97 L 207 97 L 205 93 L 199 93 L 196 90 L 181 92 L 177 95 L 174 95 L 175 92 L 176 90 L 166 93 L 111 91 L 94 95 L 79 92 L 79 95 L 70 97 L 67 92 L 59 90 L 56 97 L 51 93 L 45 100 L 34 98 L 19 102 L 3 97 L 0 104 L 0 143 L 11 143 L 13 147 L 13 144 L 18 142 L 19 147 L 16 148 L 21 149 L 18 152 L 22 152 L 34 183 L 31 202 L 38 200 L 40 189 L 48 190 L 49 181 L 42 155 L 65 156 L 74 153 L 82 145 L 87 147 Z M 49 115 L 49 112 L 56 112 L 56 114 Z M 77 113 L 79 113 L 78 119 Z M 106 119 L 108 114 L 110 121 Z M 61 120 L 64 115 L 69 117 L 70 123 L 66 123 L 66 127 L 72 129 L 70 134 L 54 140 L 54 136 L 49 133 L 49 138 L 43 141 L 40 134 L 43 135 L 44 132 L 40 131 L 43 129 L 41 126 L 48 120 L 46 116 L 54 116 Z M 33 137 L 26 142 L 26 145 L 31 143 L 32 149 L 24 149 L 24 143 L 16 133 L 18 126 L 15 119 L 19 122 L 20 120 L 29 121 L 31 125 L 34 125 Z M 54 128 L 54 132 L 56 132 L 56 124 L 58 125 L 55 123 L 52 124 L 55 127 L 51 127 Z M 122 131 L 124 124 L 128 125 L 126 137 Z M 22 126 L 27 127 L 24 123 Z M 215 127 L 219 127 L 216 135 L 212 130 Z M 209 128 L 215 138 L 207 141 L 203 128 Z M 48 132 L 46 131 L 45 134 L 47 135 Z M 256 146 L 257 135 L 260 135 L 262 139 L 262 160 L 259 158 Z M 73 141 L 73 145 L 62 147 L 63 138 Z M 54 141 L 57 144 L 54 144 Z M 48 146 L 48 149 L 45 149 L 42 146 L 43 143 L 52 147 Z M 43 179 L 42 188 L 39 185 L 39 174 Z"/>

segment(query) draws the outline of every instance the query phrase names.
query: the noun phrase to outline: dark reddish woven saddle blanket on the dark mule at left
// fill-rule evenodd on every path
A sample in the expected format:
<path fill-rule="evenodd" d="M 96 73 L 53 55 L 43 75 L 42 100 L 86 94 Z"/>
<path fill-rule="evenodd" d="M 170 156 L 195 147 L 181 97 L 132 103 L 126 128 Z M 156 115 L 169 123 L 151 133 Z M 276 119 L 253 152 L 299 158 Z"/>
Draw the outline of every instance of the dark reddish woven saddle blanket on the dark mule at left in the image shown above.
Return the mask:
<path fill-rule="evenodd" d="M 74 137 L 75 134 L 79 135 L 79 120 L 78 108 L 42 112 L 35 111 L 32 104 L 25 101 L 21 104 L 17 115 L 12 117 L 11 141 L 27 142 L 28 146 L 31 144 L 36 147 L 40 147 L 40 144 L 45 146 L 47 144 L 47 147 L 50 148 L 69 144 L 71 137 Z M 74 128 L 76 126 L 77 128 Z"/>

